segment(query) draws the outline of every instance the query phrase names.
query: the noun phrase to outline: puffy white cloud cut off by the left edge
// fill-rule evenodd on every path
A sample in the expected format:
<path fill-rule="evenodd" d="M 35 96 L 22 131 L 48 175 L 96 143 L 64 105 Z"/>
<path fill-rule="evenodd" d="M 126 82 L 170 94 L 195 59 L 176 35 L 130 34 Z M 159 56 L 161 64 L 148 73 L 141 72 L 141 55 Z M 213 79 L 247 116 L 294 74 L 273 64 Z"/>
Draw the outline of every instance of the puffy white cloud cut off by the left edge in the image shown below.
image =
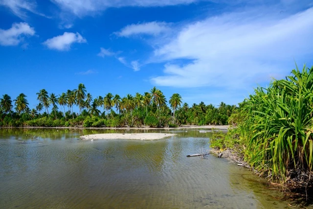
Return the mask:
<path fill-rule="evenodd" d="M 27 23 L 13 23 L 12 27 L 7 30 L 0 29 L 0 45 L 16 46 L 23 41 L 24 36 L 33 36 L 34 34 L 34 28 Z"/>

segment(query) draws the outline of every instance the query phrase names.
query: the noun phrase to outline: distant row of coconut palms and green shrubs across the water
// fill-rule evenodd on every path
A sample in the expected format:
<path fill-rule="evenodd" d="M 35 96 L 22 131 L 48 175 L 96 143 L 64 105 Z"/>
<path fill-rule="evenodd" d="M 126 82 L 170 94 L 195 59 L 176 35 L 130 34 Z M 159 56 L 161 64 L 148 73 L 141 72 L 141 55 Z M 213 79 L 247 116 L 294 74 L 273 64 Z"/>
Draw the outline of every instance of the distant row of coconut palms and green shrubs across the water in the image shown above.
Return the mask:
<path fill-rule="evenodd" d="M 0 98 L 0 126 L 6 127 L 177 127 L 188 125 L 224 125 L 236 106 L 221 102 L 214 105 L 182 103 L 178 93 L 169 99 L 156 87 L 144 94 L 107 93 L 93 98 L 84 84 L 75 90 L 56 95 L 45 89 L 37 93 L 36 109 L 28 107 L 26 95 L 21 93 L 12 101 L 7 94 Z M 13 105 L 14 110 L 13 111 Z M 73 111 L 77 106 L 79 113 Z"/>

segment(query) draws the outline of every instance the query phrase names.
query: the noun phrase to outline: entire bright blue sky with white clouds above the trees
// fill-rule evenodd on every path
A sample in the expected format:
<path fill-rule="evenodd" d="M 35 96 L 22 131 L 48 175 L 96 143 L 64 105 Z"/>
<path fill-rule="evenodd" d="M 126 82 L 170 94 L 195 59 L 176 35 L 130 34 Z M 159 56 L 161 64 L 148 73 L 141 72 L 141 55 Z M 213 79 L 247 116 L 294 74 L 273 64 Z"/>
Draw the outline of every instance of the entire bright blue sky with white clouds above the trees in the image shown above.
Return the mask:
<path fill-rule="evenodd" d="M 80 83 L 232 105 L 313 66 L 312 0 L 0 0 L 0 20 L 0 96 L 30 109 Z"/>

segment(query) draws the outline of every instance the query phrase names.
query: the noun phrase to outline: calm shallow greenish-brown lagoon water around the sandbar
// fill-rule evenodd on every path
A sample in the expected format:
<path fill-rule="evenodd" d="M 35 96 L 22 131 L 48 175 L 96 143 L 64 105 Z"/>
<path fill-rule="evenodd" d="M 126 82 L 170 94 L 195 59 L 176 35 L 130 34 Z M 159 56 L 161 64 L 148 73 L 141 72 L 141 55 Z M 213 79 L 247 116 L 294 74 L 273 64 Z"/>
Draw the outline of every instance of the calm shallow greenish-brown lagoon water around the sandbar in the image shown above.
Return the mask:
<path fill-rule="evenodd" d="M 78 140 L 107 132 L 114 131 L 0 129 L 0 208 L 288 207 L 277 199 L 280 192 L 245 168 L 212 155 L 187 158 L 209 148 L 210 133 Z"/>

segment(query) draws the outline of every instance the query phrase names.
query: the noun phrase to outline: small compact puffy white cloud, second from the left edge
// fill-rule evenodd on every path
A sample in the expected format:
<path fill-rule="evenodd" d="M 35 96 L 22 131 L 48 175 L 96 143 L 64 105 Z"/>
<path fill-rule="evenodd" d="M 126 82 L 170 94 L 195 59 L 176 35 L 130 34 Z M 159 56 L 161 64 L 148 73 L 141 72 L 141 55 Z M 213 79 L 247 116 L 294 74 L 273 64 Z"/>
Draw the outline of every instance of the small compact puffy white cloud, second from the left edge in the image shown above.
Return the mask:
<path fill-rule="evenodd" d="M 50 49 L 56 49 L 60 51 L 69 50 L 70 46 L 74 43 L 86 43 L 86 39 L 79 33 L 65 32 L 63 35 L 55 36 L 46 40 L 43 44 Z"/>

